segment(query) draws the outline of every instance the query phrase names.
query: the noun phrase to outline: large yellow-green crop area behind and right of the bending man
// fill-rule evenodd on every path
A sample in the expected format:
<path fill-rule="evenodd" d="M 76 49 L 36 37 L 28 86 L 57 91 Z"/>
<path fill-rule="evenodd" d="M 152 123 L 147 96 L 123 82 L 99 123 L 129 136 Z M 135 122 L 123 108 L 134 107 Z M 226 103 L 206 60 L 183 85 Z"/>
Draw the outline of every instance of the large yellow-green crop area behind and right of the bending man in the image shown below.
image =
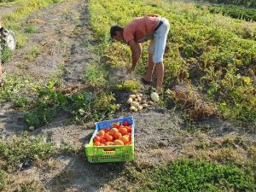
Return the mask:
<path fill-rule="evenodd" d="M 165 16 L 171 23 L 166 44 L 165 89 L 173 84 L 190 80 L 192 62 L 202 77 L 193 79 L 199 84 L 207 100 L 216 103 L 224 118 L 237 119 L 254 129 L 255 113 L 255 31 L 248 32 L 244 24 L 212 15 L 205 9 L 185 3 L 156 1 L 106 2 L 90 0 L 90 22 L 96 38 L 101 39 L 102 55 L 108 58 L 109 67 L 124 67 L 130 62 L 130 52 L 125 44 L 109 43 L 109 28 L 113 24 L 125 26 L 137 16 L 154 13 Z M 121 14 L 120 14 L 121 13 Z M 249 24 L 255 27 L 255 24 Z M 253 28 L 251 28 L 253 30 Z M 145 73 L 147 52 L 137 73 Z M 164 97 L 168 100 L 169 97 Z"/>

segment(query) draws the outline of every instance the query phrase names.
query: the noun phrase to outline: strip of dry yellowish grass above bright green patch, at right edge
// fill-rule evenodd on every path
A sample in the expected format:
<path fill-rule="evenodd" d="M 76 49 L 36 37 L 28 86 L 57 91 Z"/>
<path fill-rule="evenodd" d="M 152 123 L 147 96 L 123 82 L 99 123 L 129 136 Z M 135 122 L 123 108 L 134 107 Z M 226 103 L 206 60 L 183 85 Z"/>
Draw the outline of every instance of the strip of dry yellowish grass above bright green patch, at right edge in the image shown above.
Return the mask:
<path fill-rule="evenodd" d="M 256 160 L 256 143 L 246 137 L 230 134 L 226 137 L 210 137 L 201 134 L 192 143 L 186 143 L 182 154 L 199 160 L 211 160 L 221 164 L 252 166 Z"/>

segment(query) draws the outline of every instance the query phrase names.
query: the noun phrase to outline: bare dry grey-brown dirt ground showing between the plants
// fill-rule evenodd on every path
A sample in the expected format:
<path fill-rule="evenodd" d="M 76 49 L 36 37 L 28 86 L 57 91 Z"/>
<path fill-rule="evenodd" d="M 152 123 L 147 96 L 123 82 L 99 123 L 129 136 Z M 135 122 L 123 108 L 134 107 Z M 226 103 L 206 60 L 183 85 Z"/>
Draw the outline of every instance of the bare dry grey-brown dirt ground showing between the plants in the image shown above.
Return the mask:
<path fill-rule="evenodd" d="M 83 84 L 84 70 L 96 56 L 86 43 L 91 35 L 87 1 L 70 0 L 41 9 L 26 19 L 38 26 L 22 49 L 15 51 L 12 61 L 5 67 L 7 73 L 30 74 L 35 81 L 47 81 L 61 73 L 64 84 Z M 32 61 L 26 55 L 33 47 L 40 47 L 40 53 Z M 20 68 L 26 63 L 26 68 Z M 63 73 L 65 72 L 65 73 Z M 20 135 L 27 130 L 22 115 L 10 103 L 0 103 L 0 137 L 4 140 Z M 140 113 L 129 113 L 125 108 L 116 117 L 133 115 L 136 122 L 136 162 L 159 164 L 173 160 L 180 155 L 183 145 L 192 143 L 195 136 L 183 131 L 184 122 L 179 114 L 154 105 Z M 229 123 L 218 118 L 201 121 L 211 126 L 207 137 L 224 137 L 236 130 Z M 84 146 L 93 132 L 93 125 L 67 124 L 65 117 L 57 117 L 32 135 L 43 134 L 46 141 Z M 239 135 L 239 132 L 236 132 Z M 251 138 L 253 139 L 253 137 Z M 150 149 L 148 149 L 150 148 Z M 109 183 L 120 177 L 125 163 L 90 164 L 84 153 L 58 155 L 46 162 L 14 172 L 15 182 L 26 183 L 35 180 L 41 191 L 114 191 Z M 13 191 L 13 189 L 9 189 Z"/>

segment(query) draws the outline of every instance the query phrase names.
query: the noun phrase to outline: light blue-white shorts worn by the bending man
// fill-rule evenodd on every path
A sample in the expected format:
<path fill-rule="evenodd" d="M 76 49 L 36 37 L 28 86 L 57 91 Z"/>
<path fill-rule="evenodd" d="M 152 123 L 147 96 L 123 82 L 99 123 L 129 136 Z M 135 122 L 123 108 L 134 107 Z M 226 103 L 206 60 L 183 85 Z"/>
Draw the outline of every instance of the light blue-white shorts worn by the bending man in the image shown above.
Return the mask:
<path fill-rule="evenodd" d="M 166 18 L 161 18 L 163 24 L 154 32 L 154 38 L 151 39 L 148 53 L 153 54 L 154 63 L 164 61 L 167 35 L 170 30 L 170 23 Z"/>

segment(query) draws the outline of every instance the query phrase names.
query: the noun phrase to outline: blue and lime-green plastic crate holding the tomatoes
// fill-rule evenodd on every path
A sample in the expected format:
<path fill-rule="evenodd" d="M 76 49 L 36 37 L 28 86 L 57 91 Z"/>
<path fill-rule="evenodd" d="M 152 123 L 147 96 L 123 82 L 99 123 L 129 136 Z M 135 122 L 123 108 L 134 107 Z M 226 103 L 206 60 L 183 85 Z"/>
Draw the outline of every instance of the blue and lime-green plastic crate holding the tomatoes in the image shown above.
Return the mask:
<path fill-rule="evenodd" d="M 93 146 L 93 138 L 97 135 L 101 129 L 112 128 L 113 123 L 119 123 L 120 125 L 128 121 L 131 125 L 131 145 L 124 146 Z M 134 130 L 135 124 L 133 117 L 125 117 L 121 119 L 111 119 L 96 123 L 96 130 L 90 138 L 90 143 L 85 145 L 85 154 L 90 163 L 102 163 L 102 162 L 121 162 L 134 160 Z M 105 149 L 105 150 L 104 150 Z M 106 151 L 106 149 L 113 149 L 112 151 Z"/>

